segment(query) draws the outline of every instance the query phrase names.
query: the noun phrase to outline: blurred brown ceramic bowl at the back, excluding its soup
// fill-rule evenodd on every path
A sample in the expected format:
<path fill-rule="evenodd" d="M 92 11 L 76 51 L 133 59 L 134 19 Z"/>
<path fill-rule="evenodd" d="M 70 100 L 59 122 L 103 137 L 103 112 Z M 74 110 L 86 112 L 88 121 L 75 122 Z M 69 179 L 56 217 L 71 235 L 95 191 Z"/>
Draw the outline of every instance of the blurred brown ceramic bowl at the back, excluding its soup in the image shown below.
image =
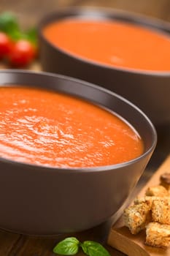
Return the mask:
<path fill-rule="evenodd" d="M 169 72 L 140 71 L 109 67 L 95 61 L 69 54 L 62 48 L 53 46 L 42 35 L 45 26 L 53 21 L 64 18 L 93 18 L 96 20 L 120 20 L 139 24 L 150 29 L 169 34 L 169 23 L 152 20 L 140 15 L 106 9 L 72 8 L 63 9 L 47 15 L 39 25 L 40 59 L 42 69 L 47 72 L 57 72 L 95 83 L 106 89 L 122 95 L 134 102 L 151 121 L 158 127 L 164 124 L 170 126 L 170 70 Z M 155 53 L 156 54 L 156 53 Z"/>

